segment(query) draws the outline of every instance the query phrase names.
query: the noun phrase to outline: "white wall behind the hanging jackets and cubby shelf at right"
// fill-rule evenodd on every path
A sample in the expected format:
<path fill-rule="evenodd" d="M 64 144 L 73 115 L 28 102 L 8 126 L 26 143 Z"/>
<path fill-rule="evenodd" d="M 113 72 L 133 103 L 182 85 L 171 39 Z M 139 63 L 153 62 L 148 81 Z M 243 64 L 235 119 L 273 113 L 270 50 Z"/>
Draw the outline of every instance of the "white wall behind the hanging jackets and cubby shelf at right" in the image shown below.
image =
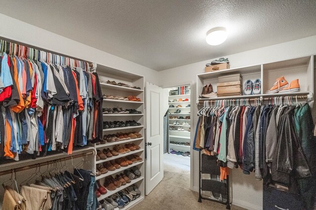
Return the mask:
<path fill-rule="evenodd" d="M 206 44 L 206 43 L 205 43 Z M 250 50 L 234 55 L 224 56 L 229 58 L 231 68 L 255 65 L 261 63 L 287 60 L 292 58 L 316 55 L 316 36 L 285 42 L 277 45 Z M 197 74 L 204 72 L 205 64 L 211 60 L 196 62 L 159 72 L 161 87 L 172 87 L 175 84 L 192 83 L 191 99 L 192 112 L 197 113 L 194 102 L 201 90 L 197 88 Z M 192 131 L 195 133 L 197 115 L 193 114 Z M 193 140 L 192 140 L 193 142 Z M 198 152 L 193 157 L 193 189 L 198 190 Z M 233 204 L 246 209 L 262 209 L 262 181 L 255 180 L 254 176 L 243 175 L 240 169 L 232 170 Z"/>

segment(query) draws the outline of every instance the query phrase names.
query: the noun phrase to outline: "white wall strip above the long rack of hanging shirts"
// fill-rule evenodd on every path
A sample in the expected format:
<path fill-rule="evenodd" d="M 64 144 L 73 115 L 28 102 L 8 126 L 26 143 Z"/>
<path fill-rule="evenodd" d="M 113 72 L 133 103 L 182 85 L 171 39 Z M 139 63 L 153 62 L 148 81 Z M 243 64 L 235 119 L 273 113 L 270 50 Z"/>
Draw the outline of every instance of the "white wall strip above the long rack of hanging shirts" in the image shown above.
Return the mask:
<path fill-rule="evenodd" d="M 153 84 L 158 83 L 158 72 L 153 69 L 119 58 L 3 14 L 0 14 L 0 23 L 0 37 L 135 73 L 144 76 L 145 81 Z M 93 39 L 93 37 L 91 37 L 91 39 Z"/>

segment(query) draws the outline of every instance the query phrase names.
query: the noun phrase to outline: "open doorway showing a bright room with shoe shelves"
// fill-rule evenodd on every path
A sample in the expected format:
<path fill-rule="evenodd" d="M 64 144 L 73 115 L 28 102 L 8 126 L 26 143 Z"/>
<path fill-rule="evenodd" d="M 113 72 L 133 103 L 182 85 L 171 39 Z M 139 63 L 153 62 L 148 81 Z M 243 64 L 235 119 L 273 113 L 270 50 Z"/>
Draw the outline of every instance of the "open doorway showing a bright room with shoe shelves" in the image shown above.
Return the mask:
<path fill-rule="evenodd" d="M 184 187 L 191 189 L 191 84 L 164 88 L 163 95 L 164 173 L 181 171 Z"/>

